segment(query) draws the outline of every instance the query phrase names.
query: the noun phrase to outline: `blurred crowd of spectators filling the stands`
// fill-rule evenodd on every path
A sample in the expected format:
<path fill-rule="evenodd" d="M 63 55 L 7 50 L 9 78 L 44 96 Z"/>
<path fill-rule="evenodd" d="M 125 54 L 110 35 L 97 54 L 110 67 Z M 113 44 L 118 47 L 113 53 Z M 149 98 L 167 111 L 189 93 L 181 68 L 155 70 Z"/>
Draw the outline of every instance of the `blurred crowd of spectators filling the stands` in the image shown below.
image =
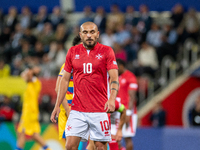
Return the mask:
<path fill-rule="evenodd" d="M 187 65 L 183 61 L 184 45 L 187 39 L 199 43 L 200 17 L 194 8 L 185 10 L 181 4 L 165 13 L 151 11 L 145 4 L 137 10 L 134 6 L 127 6 L 122 12 L 120 6 L 113 4 L 109 12 L 103 7 L 97 7 L 93 12 L 88 5 L 79 13 L 81 17 L 76 17 L 73 16 L 76 12 L 66 13 L 59 6 L 52 10 L 40 6 L 37 13 L 32 13 L 28 6 L 21 10 L 11 6 L 8 13 L 0 9 L 0 80 L 19 76 L 28 65 L 41 66 L 41 78 L 56 77 L 73 38 L 79 33 L 79 26 L 93 21 L 100 31 L 99 42 L 111 46 L 116 58 L 127 63 L 144 93 L 140 95 L 139 91 L 138 99 L 145 99 L 149 93 L 144 77 L 153 84 L 151 91 L 156 91 L 166 83 L 162 76 L 163 63 L 176 62 L 175 72 L 184 70 Z M 162 17 L 158 17 L 160 15 Z M 171 77 L 170 73 L 165 72 L 166 78 Z M 151 84 L 148 82 L 148 85 Z M 6 106 L 1 111 L 11 110 L 6 120 L 12 120 L 9 115 L 12 116 L 14 110 L 20 114 L 20 99 L 19 95 L 0 96 L 0 106 Z M 42 96 L 40 107 L 47 112 L 46 115 L 52 109 L 50 101 L 50 96 Z"/>

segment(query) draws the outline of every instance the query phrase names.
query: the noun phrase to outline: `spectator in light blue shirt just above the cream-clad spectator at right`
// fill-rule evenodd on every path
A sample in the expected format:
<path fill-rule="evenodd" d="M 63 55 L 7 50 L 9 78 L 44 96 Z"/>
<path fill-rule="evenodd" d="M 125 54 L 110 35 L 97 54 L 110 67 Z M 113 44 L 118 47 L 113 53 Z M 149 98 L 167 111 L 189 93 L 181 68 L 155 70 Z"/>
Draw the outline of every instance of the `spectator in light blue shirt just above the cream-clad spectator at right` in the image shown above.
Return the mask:
<path fill-rule="evenodd" d="M 157 48 L 162 44 L 161 36 L 162 31 L 159 29 L 158 24 L 153 23 L 151 25 L 151 30 L 147 32 L 146 41 L 153 47 Z"/>

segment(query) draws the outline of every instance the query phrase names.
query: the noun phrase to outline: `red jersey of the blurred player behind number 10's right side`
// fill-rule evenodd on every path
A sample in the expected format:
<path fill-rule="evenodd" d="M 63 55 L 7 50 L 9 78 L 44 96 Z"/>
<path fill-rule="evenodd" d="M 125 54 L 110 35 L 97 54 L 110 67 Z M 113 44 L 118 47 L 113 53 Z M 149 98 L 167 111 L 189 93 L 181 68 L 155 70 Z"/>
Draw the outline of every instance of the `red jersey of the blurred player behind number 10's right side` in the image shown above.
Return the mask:
<path fill-rule="evenodd" d="M 123 74 L 119 76 L 119 91 L 117 97 L 121 98 L 121 103 L 128 108 L 129 103 L 129 90 L 137 90 L 138 84 L 135 75 L 126 70 Z"/>

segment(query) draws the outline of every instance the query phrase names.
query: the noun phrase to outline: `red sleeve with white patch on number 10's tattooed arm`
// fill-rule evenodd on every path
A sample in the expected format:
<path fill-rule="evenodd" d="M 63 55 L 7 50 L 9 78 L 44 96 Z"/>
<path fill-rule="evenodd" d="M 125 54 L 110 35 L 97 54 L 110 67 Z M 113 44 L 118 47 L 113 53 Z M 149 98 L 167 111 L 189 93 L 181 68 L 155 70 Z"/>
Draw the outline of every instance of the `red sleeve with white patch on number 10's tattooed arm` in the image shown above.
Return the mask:
<path fill-rule="evenodd" d="M 115 54 L 112 48 L 109 48 L 107 53 L 107 70 L 118 69 Z"/>

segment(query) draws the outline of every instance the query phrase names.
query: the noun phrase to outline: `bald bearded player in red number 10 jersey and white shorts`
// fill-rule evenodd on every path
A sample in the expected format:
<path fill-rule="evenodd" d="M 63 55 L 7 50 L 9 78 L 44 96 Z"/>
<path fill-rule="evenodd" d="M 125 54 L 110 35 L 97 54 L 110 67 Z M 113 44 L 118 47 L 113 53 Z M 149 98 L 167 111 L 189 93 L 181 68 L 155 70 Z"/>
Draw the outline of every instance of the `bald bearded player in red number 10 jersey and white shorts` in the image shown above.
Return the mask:
<path fill-rule="evenodd" d="M 66 149 L 78 150 L 80 140 L 88 140 L 90 135 L 96 149 L 105 150 L 106 143 L 111 140 L 108 113 L 115 110 L 118 67 L 112 48 L 97 42 L 96 24 L 83 23 L 79 34 L 83 44 L 71 47 L 67 53 L 51 121 L 56 122 L 73 69 L 74 97 L 65 128 Z"/>

